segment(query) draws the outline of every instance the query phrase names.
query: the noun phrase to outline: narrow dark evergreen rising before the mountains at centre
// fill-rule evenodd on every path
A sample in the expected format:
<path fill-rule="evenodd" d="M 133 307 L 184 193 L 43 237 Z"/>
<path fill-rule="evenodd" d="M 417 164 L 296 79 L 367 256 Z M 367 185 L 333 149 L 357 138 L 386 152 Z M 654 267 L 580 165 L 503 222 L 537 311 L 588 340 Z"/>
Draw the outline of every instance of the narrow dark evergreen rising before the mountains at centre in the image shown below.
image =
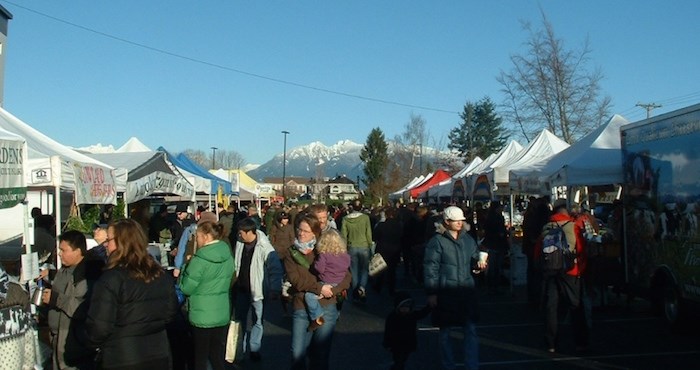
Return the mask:
<path fill-rule="evenodd" d="M 367 136 L 367 142 L 360 151 L 360 160 L 365 164 L 363 182 L 372 199 L 382 199 L 386 192 L 385 173 L 389 164 L 388 145 L 384 133 L 377 127 Z"/>

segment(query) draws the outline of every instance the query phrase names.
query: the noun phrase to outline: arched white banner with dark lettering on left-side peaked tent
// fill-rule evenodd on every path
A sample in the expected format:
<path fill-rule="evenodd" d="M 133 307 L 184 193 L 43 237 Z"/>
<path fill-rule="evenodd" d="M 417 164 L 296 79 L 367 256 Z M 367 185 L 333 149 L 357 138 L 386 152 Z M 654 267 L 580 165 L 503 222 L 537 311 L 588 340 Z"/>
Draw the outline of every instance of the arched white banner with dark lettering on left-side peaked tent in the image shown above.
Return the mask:
<path fill-rule="evenodd" d="M 129 204 L 156 193 L 191 198 L 194 196 L 194 187 L 181 176 L 156 171 L 140 179 L 129 181 L 126 184 L 124 198 Z"/>

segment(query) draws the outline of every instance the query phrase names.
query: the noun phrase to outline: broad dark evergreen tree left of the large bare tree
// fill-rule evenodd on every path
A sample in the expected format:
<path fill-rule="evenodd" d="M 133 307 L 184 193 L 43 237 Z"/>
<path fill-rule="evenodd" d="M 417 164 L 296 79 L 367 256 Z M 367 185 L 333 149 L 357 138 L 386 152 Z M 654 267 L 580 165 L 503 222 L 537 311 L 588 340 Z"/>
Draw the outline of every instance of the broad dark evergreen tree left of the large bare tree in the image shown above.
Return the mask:
<path fill-rule="evenodd" d="M 477 103 L 467 101 L 459 117 L 462 122 L 450 130 L 450 143 L 447 146 L 458 151 L 465 163 L 477 156 L 486 158 L 505 146 L 508 135 L 488 97 Z"/>

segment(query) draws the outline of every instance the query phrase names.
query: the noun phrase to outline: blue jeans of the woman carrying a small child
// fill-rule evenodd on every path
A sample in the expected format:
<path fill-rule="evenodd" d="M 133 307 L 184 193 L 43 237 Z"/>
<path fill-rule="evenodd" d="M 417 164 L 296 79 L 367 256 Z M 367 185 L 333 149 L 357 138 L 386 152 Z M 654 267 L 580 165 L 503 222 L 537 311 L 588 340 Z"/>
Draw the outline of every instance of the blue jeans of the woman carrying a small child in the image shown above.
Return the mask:
<path fill-rule="evenodd" d="M 311 320 L 306 310 L 294 311 L 292 317 L 292 370 L 328 370 L 330 368 L 331 342 L 335 323 L 338 320 L 338 309 L 334 304 L 321 307 L 326 322 L 313 332 L 307 331 Z"/>

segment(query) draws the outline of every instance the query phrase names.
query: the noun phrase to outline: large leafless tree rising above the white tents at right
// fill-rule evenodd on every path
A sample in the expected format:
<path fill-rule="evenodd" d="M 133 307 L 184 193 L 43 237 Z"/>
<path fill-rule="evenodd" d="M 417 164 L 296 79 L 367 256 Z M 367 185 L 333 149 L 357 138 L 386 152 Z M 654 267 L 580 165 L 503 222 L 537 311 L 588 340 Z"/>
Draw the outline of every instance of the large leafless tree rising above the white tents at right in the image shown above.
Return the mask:
<path fill-rule="evenodd" d="M 600 97 L 601 69 L 586 69 L 588 39 L 580 50 L 568 50 L 544 12 L 542 27 L 523 23 L 527 51 L 512 55 L 513 69 L 497 77 L 505 94 L 502 115 L 527 141 L 547 128 L 573 143 L 604 122 L 611 100 Z"/>

